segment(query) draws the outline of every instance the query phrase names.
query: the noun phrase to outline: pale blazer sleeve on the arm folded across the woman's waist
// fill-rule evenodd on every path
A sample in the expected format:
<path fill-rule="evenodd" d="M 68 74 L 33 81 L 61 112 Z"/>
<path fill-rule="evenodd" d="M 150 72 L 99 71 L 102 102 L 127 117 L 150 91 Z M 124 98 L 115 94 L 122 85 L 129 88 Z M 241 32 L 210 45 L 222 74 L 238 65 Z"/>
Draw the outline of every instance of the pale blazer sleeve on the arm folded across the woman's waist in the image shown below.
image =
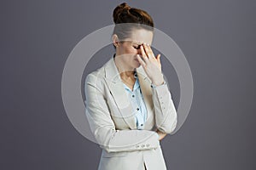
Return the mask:
<path fill-rule="evenodd" d="M 86 116 L 97 144 L 108 152 L 152 150 L 160 145 L 159 135 L 149 130 L 116 130 L 108 109 L 102 81 L 94 74 L 85 79 Z M 108 90 L 108 89 L 107 89 Z"/>

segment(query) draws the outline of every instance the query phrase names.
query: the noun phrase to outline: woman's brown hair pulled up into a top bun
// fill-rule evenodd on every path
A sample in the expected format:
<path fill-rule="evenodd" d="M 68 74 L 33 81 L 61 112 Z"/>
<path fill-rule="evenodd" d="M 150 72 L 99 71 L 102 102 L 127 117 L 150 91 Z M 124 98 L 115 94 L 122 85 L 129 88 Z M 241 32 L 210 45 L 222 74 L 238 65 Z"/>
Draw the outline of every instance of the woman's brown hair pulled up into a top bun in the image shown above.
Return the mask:
<path fill-rule="evenodd" d="M 134 28 L 154 31 L 154 21 L 151 16 L 143 9 L 131 8 L 127 3 L 121 3 L 113 9 L 113 22 L 115 23 L 113 34 L 116 34 L 120 40 L 129 37 Z M 131 25 L 123 23 L 131 23 Z"/>

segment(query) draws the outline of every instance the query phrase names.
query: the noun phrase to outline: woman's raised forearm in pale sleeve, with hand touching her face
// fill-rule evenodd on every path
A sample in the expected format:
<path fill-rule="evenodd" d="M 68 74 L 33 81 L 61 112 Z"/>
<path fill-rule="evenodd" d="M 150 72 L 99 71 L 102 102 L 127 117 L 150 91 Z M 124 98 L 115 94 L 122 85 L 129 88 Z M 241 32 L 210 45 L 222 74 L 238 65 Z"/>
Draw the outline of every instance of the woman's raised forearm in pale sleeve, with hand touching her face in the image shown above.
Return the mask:
<path fill-rule="evenodd" d="M 137 55 L 137 59 L 143 65 L 144 71 L 152 82 L 151 85 L 155 85 L 152 88 L 156 127 L 162 133 L 172 133 L 177 125 L 177 113 L 161 71 L 160 54 L 154 56 L 150 46 L 145 43 L 141 46 L 141 53 L 142 58 Z"/>

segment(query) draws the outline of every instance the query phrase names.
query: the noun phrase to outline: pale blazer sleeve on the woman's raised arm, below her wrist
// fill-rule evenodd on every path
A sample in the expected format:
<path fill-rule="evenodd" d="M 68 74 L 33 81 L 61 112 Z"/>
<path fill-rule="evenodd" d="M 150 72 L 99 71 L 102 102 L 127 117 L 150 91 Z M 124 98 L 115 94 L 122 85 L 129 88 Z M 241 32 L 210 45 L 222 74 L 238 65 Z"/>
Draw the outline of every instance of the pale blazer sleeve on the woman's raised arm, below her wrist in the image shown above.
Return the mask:
<path fill-rule="evenodd" d="M 163 133 L 172 133 L 177 126 L 177 111 L 166 85 L 152 86 L 156 127 Z"/>

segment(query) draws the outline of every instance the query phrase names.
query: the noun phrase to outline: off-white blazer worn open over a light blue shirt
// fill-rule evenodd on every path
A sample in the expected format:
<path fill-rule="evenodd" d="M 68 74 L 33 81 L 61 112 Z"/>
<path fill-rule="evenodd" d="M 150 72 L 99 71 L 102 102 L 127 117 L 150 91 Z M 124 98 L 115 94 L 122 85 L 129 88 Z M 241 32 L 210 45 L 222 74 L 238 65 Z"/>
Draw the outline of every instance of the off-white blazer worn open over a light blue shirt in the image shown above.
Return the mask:
<path fill-rule="evenodd" d="M 137 130 L 134 111 L 113 57 L 85 79 L 86 116 L 102 148 L 98 170 L 166 169 L 155 130 L 172 133 L 177 112 L 166 83 L 152 88 L 143 67 L 136 71 L 148 111 L 143 130 Z"/>

